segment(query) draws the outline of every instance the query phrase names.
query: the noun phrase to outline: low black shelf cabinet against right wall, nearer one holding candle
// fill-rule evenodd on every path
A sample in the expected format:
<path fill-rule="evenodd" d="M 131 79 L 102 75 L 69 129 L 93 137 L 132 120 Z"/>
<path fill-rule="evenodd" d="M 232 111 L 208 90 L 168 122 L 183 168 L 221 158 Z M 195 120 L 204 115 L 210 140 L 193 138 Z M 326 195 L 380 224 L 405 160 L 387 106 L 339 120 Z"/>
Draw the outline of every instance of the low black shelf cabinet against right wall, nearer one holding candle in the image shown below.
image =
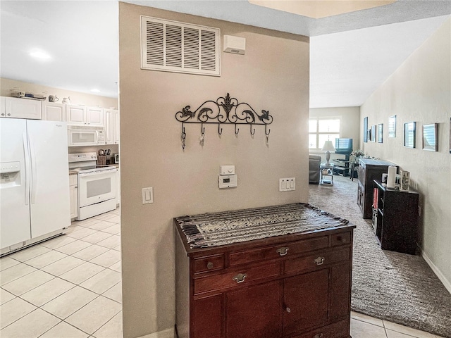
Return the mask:
<path fill-rule="evenodd" d="M 410 189 L 388 189 L 374 180 L 376 208 L 373 210 L 373 230 L 381 249 L 414 254 L 418 232 L 419 194 Z"/>

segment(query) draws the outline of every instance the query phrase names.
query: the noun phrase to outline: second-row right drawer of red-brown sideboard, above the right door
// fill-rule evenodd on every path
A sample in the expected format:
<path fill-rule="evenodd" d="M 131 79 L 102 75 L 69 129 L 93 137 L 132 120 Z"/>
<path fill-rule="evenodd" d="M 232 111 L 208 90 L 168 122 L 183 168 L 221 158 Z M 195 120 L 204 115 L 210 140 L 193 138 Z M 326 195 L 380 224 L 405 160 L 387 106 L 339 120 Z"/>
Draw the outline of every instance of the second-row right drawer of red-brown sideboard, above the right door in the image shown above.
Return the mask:
<path fill-rule="evenodd" d="M 336 251 L 319 251 L 314 255 L 285 261 L 285 273 L 295 273 L 302 270 L 321 268 L 322 265 L 347 261 L 350 259 L 350 248 Z"/>

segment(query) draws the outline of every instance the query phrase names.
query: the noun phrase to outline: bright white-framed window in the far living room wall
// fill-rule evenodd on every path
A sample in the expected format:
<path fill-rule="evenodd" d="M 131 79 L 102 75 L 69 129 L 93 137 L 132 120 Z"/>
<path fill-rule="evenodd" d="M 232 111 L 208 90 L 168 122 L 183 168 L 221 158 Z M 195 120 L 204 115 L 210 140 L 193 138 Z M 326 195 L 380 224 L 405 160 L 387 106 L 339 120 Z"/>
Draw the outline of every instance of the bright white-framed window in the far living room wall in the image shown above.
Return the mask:
<path fill-rule="evenodd" d="M 328 139 L 335 144 L 340 138 L 340 118 L 309 119 L 309 149 L 321 150 Z"/>

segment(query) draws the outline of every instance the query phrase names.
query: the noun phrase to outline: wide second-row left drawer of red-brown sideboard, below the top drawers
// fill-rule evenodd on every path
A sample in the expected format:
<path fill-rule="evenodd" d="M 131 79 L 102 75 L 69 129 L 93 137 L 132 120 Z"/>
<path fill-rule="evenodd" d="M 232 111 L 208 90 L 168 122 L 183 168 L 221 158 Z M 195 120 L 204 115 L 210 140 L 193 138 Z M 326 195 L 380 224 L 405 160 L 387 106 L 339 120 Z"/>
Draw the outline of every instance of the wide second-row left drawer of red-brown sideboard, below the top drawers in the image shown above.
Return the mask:
<path fill-rule="evenodd" d="M 273 263 L 254 268 L 242 268 L 222 275 L 199 277 L 194 279 L 194 294 L 216 291 L 241 285 L 247 285 L 257 280 L 280 275 L 280 264 Z"/>

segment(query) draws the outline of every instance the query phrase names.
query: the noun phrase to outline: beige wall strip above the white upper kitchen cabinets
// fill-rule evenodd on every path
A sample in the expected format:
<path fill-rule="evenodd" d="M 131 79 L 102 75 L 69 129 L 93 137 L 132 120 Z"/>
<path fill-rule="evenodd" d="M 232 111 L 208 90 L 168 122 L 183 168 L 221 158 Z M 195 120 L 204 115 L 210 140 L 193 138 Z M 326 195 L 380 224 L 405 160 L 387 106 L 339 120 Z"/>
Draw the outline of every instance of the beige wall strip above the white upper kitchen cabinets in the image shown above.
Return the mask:
<path fill-rule="evenodd" d="M 80 104 L 83 106 L 94 106 L 102 108 L 117 108 L 118 99 L 106 96 L 99 96 L 94 94 L 86 94 L 81 92 L 74 92 L 71 90 L 47 87 L 42 84 L 23 82 L 18 80 L 6 79 L 0 77 L 0 96 L 11 96 L 11 89 L 20 88 L 20 92 L 30 92 L 32 94 L 42 94 L 47 92 L 46 96 L 56 95 L 59 98 L 58 103 L 61 104 L 64 97 L 70 96 L 71 104 Z"/>

